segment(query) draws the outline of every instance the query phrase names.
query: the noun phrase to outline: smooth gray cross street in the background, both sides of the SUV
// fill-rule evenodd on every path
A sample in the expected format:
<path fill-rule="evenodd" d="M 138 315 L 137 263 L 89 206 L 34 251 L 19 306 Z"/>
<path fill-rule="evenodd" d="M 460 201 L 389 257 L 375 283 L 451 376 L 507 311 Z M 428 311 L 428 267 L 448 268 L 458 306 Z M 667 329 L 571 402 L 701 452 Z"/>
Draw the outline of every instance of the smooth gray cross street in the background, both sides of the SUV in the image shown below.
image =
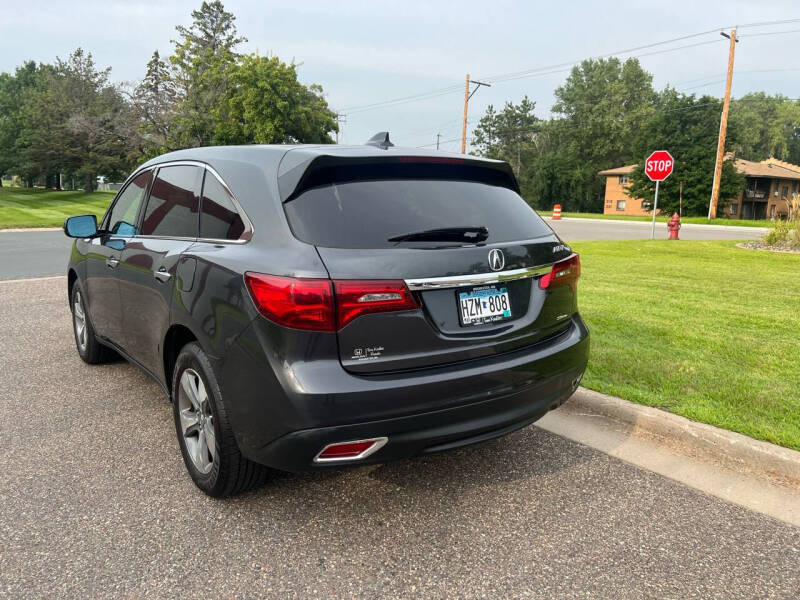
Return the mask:
<path fill-rule="evenodd" d="M 637 221 L 565 219 L 549 223 L 568 242 L 650 237 L 650 225 Z M 685 225 L 680 235 L 687 240 L 744 240 L 761 234 L 752 227 Z M 667 237 L 665 224 L 656 224 L 656 236 Z M 60 231 L 0 233 L 0 279 L 63 275 L 70 243 Z"/>

